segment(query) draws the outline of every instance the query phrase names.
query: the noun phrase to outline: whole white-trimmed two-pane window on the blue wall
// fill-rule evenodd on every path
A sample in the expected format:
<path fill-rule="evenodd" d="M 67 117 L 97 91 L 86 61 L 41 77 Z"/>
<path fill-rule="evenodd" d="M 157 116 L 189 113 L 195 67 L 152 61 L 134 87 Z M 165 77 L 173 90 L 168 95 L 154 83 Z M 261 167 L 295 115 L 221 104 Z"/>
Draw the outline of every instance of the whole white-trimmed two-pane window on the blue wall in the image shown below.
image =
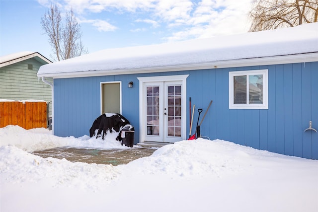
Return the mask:
<path fill-rule="evenodd" d="M 230 109 L 268 109 L 268 70 L 229 72 Z"/>

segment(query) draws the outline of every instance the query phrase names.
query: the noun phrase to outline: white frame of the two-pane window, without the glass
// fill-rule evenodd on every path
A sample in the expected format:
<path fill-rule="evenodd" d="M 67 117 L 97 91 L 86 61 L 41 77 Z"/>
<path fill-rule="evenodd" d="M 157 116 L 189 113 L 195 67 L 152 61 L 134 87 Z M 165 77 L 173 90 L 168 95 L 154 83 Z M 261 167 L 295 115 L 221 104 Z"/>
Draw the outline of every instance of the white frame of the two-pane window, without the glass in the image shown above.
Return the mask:
<path fill-rule="evenodd" d="M 242 75 L 263 75 L 263 104 L 234 104 L 234 76 Z M 247 84 L 248 84 L 248 77 Z M 248 87 L 247 97 L 248 97 Z M 248 98 L 246 98 L 248 99 Z M 230 71 L 229 72 L 229 109 L 268 109 L 268 69 L 251 71 Z"/>

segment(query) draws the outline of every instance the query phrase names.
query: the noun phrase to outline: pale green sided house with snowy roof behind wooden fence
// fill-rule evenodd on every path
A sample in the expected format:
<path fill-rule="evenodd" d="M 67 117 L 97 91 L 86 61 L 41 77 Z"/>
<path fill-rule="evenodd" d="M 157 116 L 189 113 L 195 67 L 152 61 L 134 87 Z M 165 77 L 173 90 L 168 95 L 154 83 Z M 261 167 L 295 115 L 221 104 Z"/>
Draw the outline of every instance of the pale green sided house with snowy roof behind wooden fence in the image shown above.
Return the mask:
<path fill-rule="evenodd" d="M 37 76 L 39 68 L 52 63 L 37 52 L 0 57 L 0 99 L 52 101 L 52 89 Z M 47 78 L 52 83 L 52 78 Z M 50 109 L 51 113 L 51 109 Z"/>

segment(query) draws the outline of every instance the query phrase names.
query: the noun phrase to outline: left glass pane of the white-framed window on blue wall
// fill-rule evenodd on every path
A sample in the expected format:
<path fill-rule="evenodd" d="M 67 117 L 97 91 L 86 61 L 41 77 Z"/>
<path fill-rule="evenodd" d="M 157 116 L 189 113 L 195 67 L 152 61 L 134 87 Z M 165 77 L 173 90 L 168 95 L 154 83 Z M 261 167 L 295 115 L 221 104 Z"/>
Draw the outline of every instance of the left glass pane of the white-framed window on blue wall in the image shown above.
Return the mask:
<path fill-rule="evenodd" d="M 246 104 L 246 76 L 234 76 L 234 104 Z"/>

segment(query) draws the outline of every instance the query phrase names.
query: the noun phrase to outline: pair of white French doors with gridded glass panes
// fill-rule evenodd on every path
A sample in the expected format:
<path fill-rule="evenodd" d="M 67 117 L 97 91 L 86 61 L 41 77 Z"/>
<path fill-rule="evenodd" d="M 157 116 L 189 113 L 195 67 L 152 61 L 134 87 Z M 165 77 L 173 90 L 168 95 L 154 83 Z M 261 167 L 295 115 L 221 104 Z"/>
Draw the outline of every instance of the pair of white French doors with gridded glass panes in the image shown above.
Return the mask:
<path fill-rule="evenodd" d="M 184 140 L 182 81 L 145 82 L 143 90 L 145 141 Z"/>

